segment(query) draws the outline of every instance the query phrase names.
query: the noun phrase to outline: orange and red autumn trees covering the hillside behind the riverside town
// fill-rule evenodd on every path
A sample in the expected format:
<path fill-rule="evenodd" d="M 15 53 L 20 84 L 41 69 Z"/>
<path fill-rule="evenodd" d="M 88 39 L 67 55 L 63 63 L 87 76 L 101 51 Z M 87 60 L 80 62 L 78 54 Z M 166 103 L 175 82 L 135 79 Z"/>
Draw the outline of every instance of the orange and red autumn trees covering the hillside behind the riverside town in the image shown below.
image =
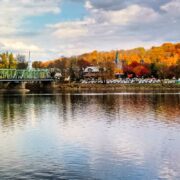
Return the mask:
<path fill-rule="evenodd" d="M 180 43 L 165 43 L 151 49 L 142 47 L 131 50 L 119 50 L 121 69 L 115 64 L 117 51 L 82 54 L 74 57 L 62 57 L 56 60 L 41 62 L 35 61 L 34 68 L 57 68 L 63 76 L 82 75 L 82 70 L 88 66 L 98 66 L 107 78 L 115 74 L 124 74 L 125 77 L 156 77 L 180 78 Z"/>

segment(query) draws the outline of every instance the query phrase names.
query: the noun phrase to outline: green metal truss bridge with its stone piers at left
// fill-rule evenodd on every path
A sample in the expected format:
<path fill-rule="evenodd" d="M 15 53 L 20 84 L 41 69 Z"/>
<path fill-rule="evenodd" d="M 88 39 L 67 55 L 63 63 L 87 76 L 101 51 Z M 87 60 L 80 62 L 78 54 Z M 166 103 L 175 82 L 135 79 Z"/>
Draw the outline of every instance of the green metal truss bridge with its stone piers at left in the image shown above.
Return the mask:
<path fill-rule="evenodd" d="M 48 69 L 0 69 L 0 88 L 24 89 L 26 83 L 42 86 L 54 81 Z"/>

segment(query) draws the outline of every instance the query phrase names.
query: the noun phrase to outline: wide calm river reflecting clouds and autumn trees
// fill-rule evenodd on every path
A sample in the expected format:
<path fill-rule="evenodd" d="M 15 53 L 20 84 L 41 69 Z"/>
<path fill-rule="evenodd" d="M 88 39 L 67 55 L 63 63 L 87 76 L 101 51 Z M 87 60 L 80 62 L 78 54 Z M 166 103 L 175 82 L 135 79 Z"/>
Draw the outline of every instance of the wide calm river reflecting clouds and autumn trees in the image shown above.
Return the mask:
<path fill-rule="evenodd" d="M 180 179 L 180 93 L 1 94 L 4 179 Z"/>

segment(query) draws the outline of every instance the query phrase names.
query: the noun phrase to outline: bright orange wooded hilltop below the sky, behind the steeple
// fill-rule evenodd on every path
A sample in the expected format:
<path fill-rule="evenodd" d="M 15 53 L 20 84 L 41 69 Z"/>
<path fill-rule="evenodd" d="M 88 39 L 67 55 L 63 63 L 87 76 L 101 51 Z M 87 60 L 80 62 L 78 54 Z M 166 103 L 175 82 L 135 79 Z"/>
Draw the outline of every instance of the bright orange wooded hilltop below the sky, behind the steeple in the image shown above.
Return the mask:
<path fill-rule="evenodd" d="M 143 47 L 138 47 L 131 50 L 119 50 L 119 59 L 126 61 L 127 64 L 133 61 L 145 63 L 162 63 L 167 66 L 171 66 L 180 61 L 180 43 L 164 43 L 158 47 L 152 47 L 151 49 L 144 49 Z M 104 61 L 113 62 L 115 59 L 116 51 L 110 52 L 98 52 L 93 51 L 91 53 L 85 53 L 77 57 L 70 58 L 60 58 L 52 61 L 38 62 L 43 67 L 51 67 L 58 60 L 72 60 L 76 58 L 76 61 L 84 61 L 91 65 L 97 65 Z M 37 62 L 35 62 L 37 65 Z"/>

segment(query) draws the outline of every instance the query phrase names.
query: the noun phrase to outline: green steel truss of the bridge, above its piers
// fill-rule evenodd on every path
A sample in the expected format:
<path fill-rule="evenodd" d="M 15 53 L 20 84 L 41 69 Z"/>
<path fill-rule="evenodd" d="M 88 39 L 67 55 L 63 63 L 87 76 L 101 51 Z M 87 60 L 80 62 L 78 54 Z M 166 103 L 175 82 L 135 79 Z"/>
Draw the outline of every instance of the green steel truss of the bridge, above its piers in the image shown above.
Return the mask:
<path fill-rule="evenodd" d="M 0 69 L 2 80 L 50 80 L 48 69 Z"/>

